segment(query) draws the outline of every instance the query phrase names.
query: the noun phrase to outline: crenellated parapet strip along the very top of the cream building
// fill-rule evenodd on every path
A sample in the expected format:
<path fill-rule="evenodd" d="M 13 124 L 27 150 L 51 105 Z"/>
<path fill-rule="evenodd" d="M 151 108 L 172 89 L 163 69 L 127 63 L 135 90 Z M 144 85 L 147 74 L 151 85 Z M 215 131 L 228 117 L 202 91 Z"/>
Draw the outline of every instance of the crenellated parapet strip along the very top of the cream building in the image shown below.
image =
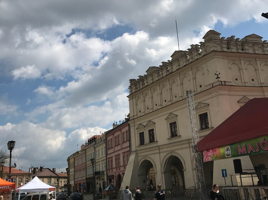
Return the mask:
<path fill-rule="evenodd" d="M 245 36 L 241 40 L 240 38 L 235 38 L 235 36 L 225 39 L 225 37 L 220 37 L 220 35 L 221 33 L 215 30 L 209 30 L 203 37 L 204 42 L 190 45 L 191 48 L 188 48 L 187 51 L 175 51 L 170 56 L 171 60 L 162 62 L 158 67 L 149 67 L 146 74 L 140 75 L 138 79 L 130 79 L 129 94 L 133 94 L 177 70 L 187 68 L 191 64 L 192 67 L 202 57 L 207 56 L 211 52 L 268 54 L 267 40 L 262 41 L 262 37 L 256 34 Z"/>

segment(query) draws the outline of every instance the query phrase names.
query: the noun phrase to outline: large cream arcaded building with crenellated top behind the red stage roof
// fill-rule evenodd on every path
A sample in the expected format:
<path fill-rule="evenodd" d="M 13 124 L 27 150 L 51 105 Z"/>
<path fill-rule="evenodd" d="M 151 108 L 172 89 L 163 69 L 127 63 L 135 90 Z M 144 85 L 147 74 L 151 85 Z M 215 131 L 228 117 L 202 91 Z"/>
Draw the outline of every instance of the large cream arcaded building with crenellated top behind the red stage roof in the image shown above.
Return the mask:
<path fill-rule="evenodd" d="M 225 38 L 214 30 L 203 39 L 188 51 L 175 51 L 171 60 L 149 67 L 138 79 L 130 79 L 132 151 L 120 190 L 126 185 L 144 190 L 151 179 L 154 187 L 161 184 L 165 190 L 195 185 L 187 91 L 194 93 L 200 139 L 249 99 L 268 96 L 266 40 L 256 34 L 241 40 Z M 248 156 L 241 160 L 243 168 L 253 169 Z M 234 174 L 232 159 L 204 163 L 207 188 L 224 184 L 222 167 Z"/>

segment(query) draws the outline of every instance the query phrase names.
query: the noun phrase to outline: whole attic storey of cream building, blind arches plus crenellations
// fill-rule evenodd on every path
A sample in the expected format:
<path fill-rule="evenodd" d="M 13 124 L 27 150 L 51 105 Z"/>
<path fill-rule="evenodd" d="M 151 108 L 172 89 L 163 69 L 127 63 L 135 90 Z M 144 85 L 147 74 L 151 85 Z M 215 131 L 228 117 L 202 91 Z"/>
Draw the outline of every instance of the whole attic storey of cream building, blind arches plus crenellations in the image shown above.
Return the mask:
<path fill-rule="evenodd" d="M 184 99 L 188 90 L 197 94 L 217 85 L 268 86 L 267 40 L 256 34 L 243 39 L 220 35 L 209 30 L 204 42 L 175 51 L 171 60 L 130 79 L 130 113 L 139 117 L 171 105 Z"/>

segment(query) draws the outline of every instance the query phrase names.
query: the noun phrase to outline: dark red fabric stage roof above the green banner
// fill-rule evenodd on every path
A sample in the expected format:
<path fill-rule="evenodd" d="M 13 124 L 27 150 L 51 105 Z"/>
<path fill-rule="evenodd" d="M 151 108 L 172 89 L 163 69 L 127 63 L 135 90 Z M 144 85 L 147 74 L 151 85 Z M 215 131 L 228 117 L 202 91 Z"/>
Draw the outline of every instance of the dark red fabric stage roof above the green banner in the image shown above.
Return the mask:
<path fill-rule="evenodd" d="M 268 135 L 268 98 L 254 98 L 200 140 L 197 148 L 204 151 L 265 135 Z"/>

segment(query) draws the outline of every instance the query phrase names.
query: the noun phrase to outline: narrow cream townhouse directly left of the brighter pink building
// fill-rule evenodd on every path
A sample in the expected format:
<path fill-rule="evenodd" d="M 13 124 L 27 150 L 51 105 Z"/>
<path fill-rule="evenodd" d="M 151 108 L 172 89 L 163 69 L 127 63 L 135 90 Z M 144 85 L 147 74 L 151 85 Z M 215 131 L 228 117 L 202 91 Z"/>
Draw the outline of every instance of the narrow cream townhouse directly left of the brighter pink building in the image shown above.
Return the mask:
<path fill-rule="evenodd" d="M 104 190 L 107 187 L 106 182 L 106 140 L 105 134 L 97 136 L 96 144 L 94 145 L 95 149 L 95 182 L 96 182 L 96 190 L 99 191 L 99 187 Z"/>

